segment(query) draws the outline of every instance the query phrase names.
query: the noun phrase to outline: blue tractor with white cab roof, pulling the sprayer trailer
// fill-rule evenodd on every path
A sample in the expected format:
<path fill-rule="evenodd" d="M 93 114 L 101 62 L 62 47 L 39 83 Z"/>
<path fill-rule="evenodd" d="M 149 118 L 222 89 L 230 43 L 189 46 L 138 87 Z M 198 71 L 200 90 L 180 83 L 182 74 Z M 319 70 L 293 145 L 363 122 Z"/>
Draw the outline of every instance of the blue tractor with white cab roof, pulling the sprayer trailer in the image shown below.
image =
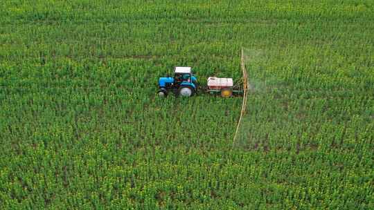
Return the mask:
<path fill-rule="evenodd" d="M 169 93 L 190 97 L 196 91 L 197 79 L 190 67 L 175 67 L 174 77 L 159 78 L 159 97 L 166 97 Z"/>

